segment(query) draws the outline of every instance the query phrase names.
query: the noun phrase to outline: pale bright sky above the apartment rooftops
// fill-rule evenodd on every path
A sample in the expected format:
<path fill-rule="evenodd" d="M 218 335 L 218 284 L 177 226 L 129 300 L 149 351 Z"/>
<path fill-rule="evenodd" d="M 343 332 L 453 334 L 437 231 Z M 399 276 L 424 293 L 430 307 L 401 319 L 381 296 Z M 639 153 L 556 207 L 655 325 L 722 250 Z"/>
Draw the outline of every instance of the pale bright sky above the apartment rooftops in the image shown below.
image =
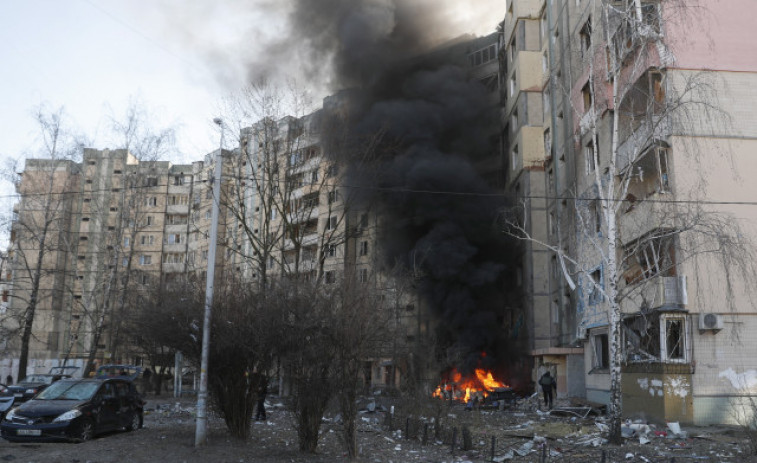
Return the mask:
<path fill-rule="evenodd" d="M 504 17 L 505 0 L 433 3 L 445 1 L 459 28 L 450 34 L 488 34 Z M 1 0 L 0 157 L 34 157 L 32 113 L 41 104 L 64 107 L 94 148 L 109 147 L 108 118 L 122 115 L 129 100 L 138 98 L 158 124 L 178 127 L 172 161 L 201 159 L 218 143 L 212 123 L 218 102 L 248 75 L 238 58 L 285 33 L 287 5 L 287 0 Z"/>

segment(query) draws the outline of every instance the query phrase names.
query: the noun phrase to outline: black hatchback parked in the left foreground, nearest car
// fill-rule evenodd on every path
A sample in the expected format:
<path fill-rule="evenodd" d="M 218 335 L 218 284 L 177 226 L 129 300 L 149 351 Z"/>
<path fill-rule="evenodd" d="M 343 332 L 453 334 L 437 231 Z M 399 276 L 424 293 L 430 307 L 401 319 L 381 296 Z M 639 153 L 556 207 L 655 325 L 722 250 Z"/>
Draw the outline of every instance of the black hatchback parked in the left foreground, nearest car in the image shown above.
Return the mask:
<path fill-rule="evenodd" d="M 11 442 L 82 442 L 94 435 L 142 427 L 144 401 L 131 381 L 63 379 L 11 409 L 0 434 Z"/>

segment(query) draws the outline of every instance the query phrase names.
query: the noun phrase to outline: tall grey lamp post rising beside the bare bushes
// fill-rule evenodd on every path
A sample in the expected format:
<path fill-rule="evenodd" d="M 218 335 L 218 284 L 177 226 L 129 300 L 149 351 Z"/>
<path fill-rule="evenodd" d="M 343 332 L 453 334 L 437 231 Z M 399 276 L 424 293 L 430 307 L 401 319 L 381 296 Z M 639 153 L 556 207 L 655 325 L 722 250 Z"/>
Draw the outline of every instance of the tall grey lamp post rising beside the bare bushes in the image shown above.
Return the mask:
<path fill-rule="evenodd" d="M 208 249 L 208 271 L 205 281 L 205 313 L 202 323 L 202 355 L 200 357 L 200 390 L 197 393 L 197 425 L 195 427 L 195 447 L 207 442 L 208 423 L 208 351 L 210 350 L 210 315 L 213 306 L 213 282 L 216 268 L 216 244 L 218 242 L 218 214 L 221 198 L 221 165 L 223 164 L 223 120 L 213 119 L 221 129 L 221 143 L 215 157 L 213 174 L 213 207 L 210 222 L 210 248 Z"/>

